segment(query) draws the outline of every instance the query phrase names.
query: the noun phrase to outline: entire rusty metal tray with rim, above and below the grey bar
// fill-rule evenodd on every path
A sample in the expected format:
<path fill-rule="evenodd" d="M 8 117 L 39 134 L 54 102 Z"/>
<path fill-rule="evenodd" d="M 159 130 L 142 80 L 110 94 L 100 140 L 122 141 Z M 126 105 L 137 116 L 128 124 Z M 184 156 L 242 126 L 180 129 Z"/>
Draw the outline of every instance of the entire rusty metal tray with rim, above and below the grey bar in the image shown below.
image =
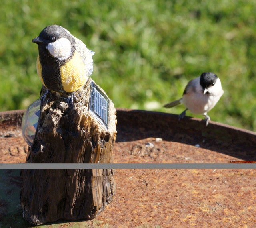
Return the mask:
<path fill-rule="evenodd" d="M 22 111 L 0 113 L 0 163 L 24 163 Z M 117 110 L 115 163 L 256 160 L 256 134 L 172 114 Z M 94 220 L 52 227 L 255 227 L 254 169 L 117 169 L 113 202 Z M 19 208 L 18 170 L 0 169 L 0 227 L 32 227 Z"/>

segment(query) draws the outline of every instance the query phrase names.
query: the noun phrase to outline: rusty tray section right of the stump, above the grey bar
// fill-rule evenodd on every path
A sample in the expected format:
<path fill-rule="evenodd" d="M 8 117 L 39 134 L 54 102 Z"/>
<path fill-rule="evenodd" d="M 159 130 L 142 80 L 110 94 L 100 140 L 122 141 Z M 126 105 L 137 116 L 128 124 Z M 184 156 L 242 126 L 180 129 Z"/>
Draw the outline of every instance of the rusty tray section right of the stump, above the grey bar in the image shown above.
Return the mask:
<path fill-rule="evenodd" d="M 178 121 L 177 115 L 159 112 L 119 110 L 118 114 L 117 142 L 121 147 L 118 154 L 136 155 L 132 162 L 145 163 L 140 160 L 142 154 L 150 163 L 256 160 L 255 132 L 216 122 L 210 122 L 206 127 L 196 118 L 186 117 Z M 157 138 L 162 141 L 156 142 Z M 147 147 L 146 143 L 152 143 L 154 147 Z M 128 148 L 125 150 L 125 147 Z"/>

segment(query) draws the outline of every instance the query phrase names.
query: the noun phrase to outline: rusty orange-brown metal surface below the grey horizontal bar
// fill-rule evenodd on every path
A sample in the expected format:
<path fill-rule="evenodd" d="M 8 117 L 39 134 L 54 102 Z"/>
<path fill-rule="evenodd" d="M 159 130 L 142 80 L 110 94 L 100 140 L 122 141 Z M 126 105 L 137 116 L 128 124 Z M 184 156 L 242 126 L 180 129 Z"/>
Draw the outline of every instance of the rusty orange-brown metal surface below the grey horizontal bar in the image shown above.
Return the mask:
<path fill-rule="evenodd" d="M 255 176 L 252 169 L 118 169 L 115 198 L 97 218 L 40 228 L 254 227 Z M 21 180 L 13 178 L 0 176 L 0 225 L 32 227 L 18 207 Z"/>

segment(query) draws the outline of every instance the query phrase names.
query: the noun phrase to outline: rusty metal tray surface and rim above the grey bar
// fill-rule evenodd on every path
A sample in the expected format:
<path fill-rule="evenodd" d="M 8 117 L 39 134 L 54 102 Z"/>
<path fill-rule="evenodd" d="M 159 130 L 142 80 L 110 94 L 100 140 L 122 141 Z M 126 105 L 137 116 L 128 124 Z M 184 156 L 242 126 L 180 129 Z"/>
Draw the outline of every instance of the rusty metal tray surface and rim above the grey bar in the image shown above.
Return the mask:
<path fill-rule="evenodd" d="M 0 114 L 0 162 L 22 163 L 23 111 Z M 115 163 L 230 163 L 256 160 L 256 133 L 173 114 L 117 109 Z"/>

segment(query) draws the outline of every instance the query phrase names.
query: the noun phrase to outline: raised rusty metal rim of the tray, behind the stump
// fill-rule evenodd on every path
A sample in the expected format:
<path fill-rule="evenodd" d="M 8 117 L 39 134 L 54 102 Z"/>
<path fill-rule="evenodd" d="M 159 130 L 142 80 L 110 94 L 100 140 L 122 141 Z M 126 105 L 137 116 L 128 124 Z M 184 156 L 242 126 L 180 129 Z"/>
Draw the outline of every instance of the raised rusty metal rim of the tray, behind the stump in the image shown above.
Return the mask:
<path fill-rule="evenodd" d="M 1 137 L 22 137 L 20 125 L 23 113 L 24 110 L 0 112 Z M 206 127 L 205 122 L 198 118 L 186 116 L 178 121 L 178 115 L 146 110 L 117 108 L 116 116 L 116 143 L 120 145 L 140 144 L 144 139 L 160 138 L 167 144 L 174 143 L 174 147 L 181 145 L 179 153 L 199 145 L 198 150 L 207 149 L 206 153 L 215 151 L 246 161 L 256 160 L 256 133 L 249 130 L 213 121 Z"/>

